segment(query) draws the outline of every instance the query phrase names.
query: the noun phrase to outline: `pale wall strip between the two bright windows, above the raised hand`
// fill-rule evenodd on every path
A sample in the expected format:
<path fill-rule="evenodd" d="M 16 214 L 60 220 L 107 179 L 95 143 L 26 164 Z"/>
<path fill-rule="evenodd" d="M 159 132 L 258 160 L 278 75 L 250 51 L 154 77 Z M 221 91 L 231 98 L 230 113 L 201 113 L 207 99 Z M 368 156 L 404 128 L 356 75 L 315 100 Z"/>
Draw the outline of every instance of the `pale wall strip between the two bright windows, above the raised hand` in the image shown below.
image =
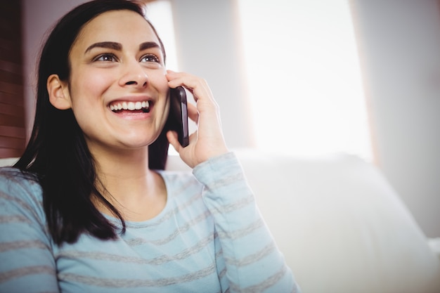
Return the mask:
<path fill-rule="evenodd" d="M 179 68 L 207 79 L 230 147 L 254 144 L 234 0 L 172 0 Z M 239 50 L 238 50 L 239 48 Z"/>

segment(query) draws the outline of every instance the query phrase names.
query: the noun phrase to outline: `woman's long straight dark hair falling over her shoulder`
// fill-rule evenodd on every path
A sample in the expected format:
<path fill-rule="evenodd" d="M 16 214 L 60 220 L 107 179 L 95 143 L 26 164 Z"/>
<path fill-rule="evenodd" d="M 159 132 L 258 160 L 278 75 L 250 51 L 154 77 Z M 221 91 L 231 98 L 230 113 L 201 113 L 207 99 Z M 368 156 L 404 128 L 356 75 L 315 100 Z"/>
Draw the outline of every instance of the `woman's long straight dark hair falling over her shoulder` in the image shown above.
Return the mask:
<path fill-rule="evenodd" d="M 103 240 L 116 237 L 117 227 L 96 209 L 91 196 L 105 204 L 122 221 L 122 233 L 125 230 L 122 215 L 98 191 L 96 165 L 72 110 L 53 107 L 46 88 L 51 74 L 69 81 L 69 53 L 82 27 L 101 13 L 117 10 L 145 16 L 141 6 L 128 0 L 87 2 L 58 20 L 41 51 L 34 127 L 27 148 L 14 167 L 41 185 L 48 229 L 58 245 L 76 242 L 82 233 Z M 160 41 L 159 36 L 157 39 Z M 165 56 L 162 41 L 160 45 Z M 149 146 L 150 169 L 164 169 L 169 147 L 166 130 L 167 126 Z"/>

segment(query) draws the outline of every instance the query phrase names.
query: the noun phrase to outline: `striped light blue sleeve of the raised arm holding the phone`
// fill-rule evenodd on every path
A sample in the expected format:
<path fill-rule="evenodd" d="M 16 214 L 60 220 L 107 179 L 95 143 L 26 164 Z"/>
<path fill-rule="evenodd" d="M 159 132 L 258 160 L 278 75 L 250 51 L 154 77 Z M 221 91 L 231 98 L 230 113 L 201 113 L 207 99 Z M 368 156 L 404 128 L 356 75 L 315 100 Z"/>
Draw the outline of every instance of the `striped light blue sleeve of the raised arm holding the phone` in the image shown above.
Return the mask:
<path fill-rule="evenodd" d="M 203 199 L 214 216 L 230 292 L 300 292 L 235 154 L 209 159 L 193 174 L 204 185 Z"/>

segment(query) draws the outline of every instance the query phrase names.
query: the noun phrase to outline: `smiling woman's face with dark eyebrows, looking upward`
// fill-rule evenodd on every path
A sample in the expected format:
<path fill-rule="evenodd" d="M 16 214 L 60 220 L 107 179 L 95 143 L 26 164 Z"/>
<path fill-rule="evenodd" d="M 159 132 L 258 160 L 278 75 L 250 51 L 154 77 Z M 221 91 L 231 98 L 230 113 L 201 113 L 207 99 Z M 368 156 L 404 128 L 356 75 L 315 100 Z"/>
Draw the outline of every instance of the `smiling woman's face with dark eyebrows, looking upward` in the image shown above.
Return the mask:
<path fill-rule="evenodd" d="M 69 96 L 93 153 L 144 148 L 169 110 L 160 42 L 132 11 L 109 11 L 88 22 L 70 51 Z"/>

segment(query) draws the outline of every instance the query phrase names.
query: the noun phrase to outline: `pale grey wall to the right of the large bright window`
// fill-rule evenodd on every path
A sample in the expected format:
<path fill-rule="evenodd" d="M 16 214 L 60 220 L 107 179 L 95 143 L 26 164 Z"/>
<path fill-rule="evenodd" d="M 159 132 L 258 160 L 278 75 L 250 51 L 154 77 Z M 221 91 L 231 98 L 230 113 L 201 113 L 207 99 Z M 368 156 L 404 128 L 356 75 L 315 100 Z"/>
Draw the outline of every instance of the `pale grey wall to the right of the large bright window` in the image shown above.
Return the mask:
<path fill-rule="evenodd" d="M 352 0 L 380 168 L 428 236 L 440 236 L 440 9 Z"/>

